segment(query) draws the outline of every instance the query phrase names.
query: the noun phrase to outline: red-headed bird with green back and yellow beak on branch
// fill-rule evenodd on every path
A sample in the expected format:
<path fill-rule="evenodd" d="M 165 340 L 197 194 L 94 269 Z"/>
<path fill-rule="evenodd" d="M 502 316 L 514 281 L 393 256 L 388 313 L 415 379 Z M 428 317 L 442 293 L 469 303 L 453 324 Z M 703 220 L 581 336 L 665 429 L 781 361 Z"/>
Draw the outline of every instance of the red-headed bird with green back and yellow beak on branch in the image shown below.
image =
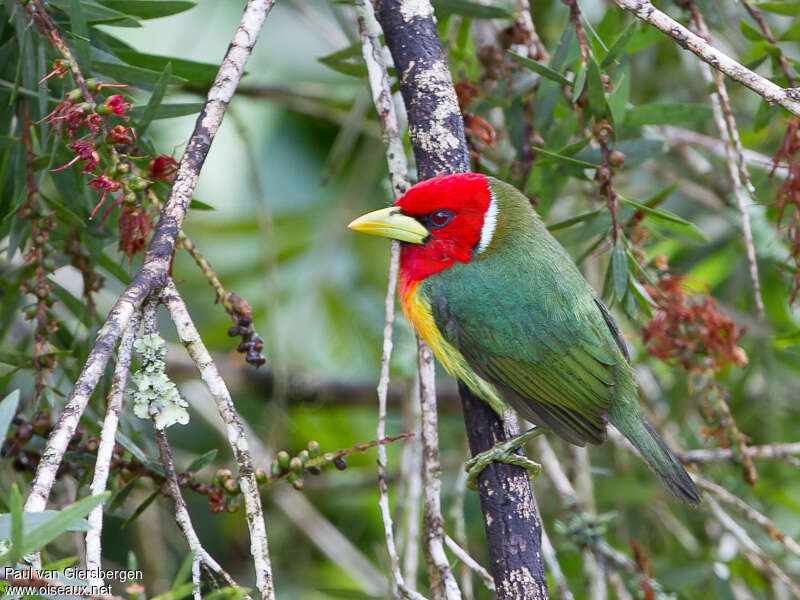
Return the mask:
<path fill-rule="evenodd" d="M 614 317 L 519 190 L 441 175 L 348 227 L 400 242 L 403 313 L 475 395 L 577 446 L 603 443 L 611 423 L 676 498 L 700 503 L 639 405 Z"/>

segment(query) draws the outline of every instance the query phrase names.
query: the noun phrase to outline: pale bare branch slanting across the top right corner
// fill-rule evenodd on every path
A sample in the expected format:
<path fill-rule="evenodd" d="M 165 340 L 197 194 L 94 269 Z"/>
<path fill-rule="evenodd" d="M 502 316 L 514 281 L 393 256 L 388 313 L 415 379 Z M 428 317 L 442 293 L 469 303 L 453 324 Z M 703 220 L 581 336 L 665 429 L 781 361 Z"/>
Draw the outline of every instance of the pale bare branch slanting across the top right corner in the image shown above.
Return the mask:
<path fill-rule="evenodd" d="M 780 104 L 793 115 L 800 116 L 800 90 L 797 88 L 784 89 L 754 73 L 658 10 L 649 0 L 614 0 L 614 2 L 620 8 L 674 39 L 681 48 L 693 52 L 700 60 L 747 86 L 770 104 Z"/>

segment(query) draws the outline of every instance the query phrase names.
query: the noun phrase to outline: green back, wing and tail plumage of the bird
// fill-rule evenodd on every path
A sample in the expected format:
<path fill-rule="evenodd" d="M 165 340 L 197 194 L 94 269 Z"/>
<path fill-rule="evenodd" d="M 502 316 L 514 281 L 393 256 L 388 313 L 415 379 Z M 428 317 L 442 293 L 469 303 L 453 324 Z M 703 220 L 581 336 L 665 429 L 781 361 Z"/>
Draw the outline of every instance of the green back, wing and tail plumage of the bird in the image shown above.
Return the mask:
<path fill-rule="evenodd" d="M 445 340 L 523 417 L 568 442 L 599 444 L 610 421 L 679 499 L 697 504 L 642 413 L 613 318 L 527 198 L 490 182 L 499 210 L 489 247 L 420 286 Z"/>

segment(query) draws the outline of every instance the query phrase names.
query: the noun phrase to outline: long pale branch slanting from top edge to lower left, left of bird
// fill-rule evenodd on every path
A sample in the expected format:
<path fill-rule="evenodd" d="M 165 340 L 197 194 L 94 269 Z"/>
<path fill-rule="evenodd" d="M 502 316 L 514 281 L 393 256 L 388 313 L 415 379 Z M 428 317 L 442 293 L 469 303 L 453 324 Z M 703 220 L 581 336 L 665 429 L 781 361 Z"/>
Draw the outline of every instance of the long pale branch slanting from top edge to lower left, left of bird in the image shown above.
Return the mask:
<path fill-rule="evenodd" d="M 105 324 L 97 334 L 81 374 L 70 391 L 64 409 L 42 452 L 25 502 L 26 512 L 44 510 L 69 440 L 75 434 L 81 415 L 105 372 L 106 364 L 122 336 L 123 329 L 144 298 L 165 281 L 175 240 L 197 186 L 200 169 L 273 3 L 274 0 L 248 0 L 245 6 L 242 20 L 223 58 L 214 84 L 208 92 L 203 110 L 197 118 L 194 132 L 178 166 L 175 182 L 150 241 L 144 264 L 117 299 Z"/>

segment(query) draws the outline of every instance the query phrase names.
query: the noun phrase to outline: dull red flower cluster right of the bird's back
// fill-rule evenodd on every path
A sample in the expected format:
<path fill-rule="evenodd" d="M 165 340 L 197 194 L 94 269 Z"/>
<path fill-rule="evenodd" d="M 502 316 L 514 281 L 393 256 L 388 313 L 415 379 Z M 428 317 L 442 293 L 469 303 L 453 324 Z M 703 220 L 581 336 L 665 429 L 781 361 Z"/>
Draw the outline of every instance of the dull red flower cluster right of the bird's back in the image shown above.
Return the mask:
<path fill-rule="evenodd" d="M 691 297 L 681 276 L 665 275 L 656 287 L 645 287 L 658 307 L 642 331 L 652 356 L 687 371 L 747 365 L 747 354 L 737 345 L 744 331 L 717 312 L 710 296 Z"/>

